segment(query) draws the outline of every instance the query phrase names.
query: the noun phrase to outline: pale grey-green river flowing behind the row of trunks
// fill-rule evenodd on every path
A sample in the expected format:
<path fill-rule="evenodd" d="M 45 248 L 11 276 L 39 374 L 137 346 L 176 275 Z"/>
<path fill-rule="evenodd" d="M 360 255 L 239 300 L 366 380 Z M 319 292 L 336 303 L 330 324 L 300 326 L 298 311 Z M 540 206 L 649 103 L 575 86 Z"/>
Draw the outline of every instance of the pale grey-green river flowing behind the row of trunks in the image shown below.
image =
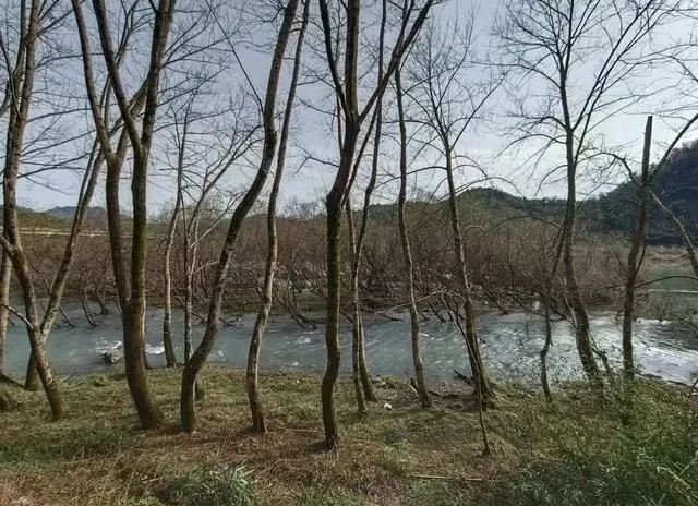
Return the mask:
<path fill-rule="evenodd" d="M 115 371 L 121 364 L 106 365 L 100 354 L 118 349 L 121 322 L 118 314 L 96 316 L 98 325 L 89 326 L 80 308 L 68 305 L 74 328 L 62 324 L 50 337 L 48 356 L 61 375 Z M 401 315 L 407 317 L 406 315 Z M 212 362 L 244 366 L 254 315 L 244 315 L 234 326 L 221 326 L 210 353 Z M 153 365 L 163 365 L 163 313 L 148 310 L 146 316 L 147 347 Z M 178 358 L 183 354 L 181 314 L 174 315 L 173 339 Z M 698 336 L 669 322 L 638 320 L 635 322 L 636 363 L 648 374 L 687 383 L 698 374 Z M 494 380 L 516 380 L 538 383 L 539 351 L 544 342 L 543 321 L 539 316 L 510 313 L 484 314 L 478 318 L 482 353 Z M 607 352 L 617 368 L 621 357 L 621 325 L 611 314 L 591 318 L 592 336 L 598 347 Z M 194 325 L 194 346 L 201 339 L 204 325 Z M 421 325 L 423 358 L 431 378 L 453 377 L 454 369 L 470 374 L 466 347 L 453 323 L 436 320 Z M 380 374 L 409 375 L 412 371 L 408 321 L 377 321 L 366 325 L 366 356 L 371 371 Z M 350 370 L 351 333 L 342 324 L 342 368 Z M 553 348 L 549 356 L 551 381 L 579 376 L 581 369 L 576 353 L 574 332 L 568 322 L 553 324 Z M 24 328 L 10 327 L 5 346 L 5 370 L 22 374 L 26 366 L 28 341 Z M 300 328 L 286 316 L 273 316 L 265 334 L 261 368 L 266 370 L 322 370 L 325 365 L 324 328 Z"/>

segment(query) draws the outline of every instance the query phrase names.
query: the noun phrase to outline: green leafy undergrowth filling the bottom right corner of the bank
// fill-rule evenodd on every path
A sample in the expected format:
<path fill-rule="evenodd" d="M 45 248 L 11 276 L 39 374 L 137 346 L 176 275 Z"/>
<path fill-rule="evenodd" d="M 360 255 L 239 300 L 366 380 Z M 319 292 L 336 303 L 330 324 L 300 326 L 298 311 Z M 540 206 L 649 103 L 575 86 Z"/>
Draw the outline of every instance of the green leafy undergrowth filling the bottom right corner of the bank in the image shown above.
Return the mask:
<path fill-rule="evenodd" d="M 658 386 L 659 385 L 659 386 Z M 670 387 L 636 385 L 633 423 L 600 431 L 594 441 L 563 449 L 559 460 L 538 460 L 497 482 L 482 504 L 570 506 L 691 506 L 698 504 L 698 431 L 687 423 Z M 583 398 L 577 411 L 583 413 Z M 607 399 L 595 422 L 621 412 Z M 602 411 L 603 410 L 603 411 Z M 541 427 L 532 427 L 541 430 Z M 566 437 L 559 434 L 561 438 Z M 574 434 L 569 434 L 574 438 Z M 564 443 L 564 442 L 563 442 Z M 564 448 L 564 444 L 561 445 Z"/>

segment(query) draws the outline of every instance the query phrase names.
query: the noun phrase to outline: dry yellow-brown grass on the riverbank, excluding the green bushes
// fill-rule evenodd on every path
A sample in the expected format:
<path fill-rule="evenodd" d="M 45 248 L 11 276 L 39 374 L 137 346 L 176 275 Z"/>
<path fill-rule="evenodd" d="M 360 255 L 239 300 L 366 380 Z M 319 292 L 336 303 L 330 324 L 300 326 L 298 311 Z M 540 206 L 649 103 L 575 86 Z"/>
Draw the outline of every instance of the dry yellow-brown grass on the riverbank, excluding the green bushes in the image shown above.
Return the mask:
<path fill-rule="evenodd" d="M 477 415 L 462 393 L 425 411 L 406 383 L 382 381 L 380 405 L 360 417 L 350 384 L 341 383 L 341 446 L 327 454 L 320 445 L 318 376 L 262 376 L 270 430 L 264 436 L 248 431 L 242 373 L 208 368 L 203 377 L 207 398 L 192 435 L 179 432 L 180 371 L 152 372 L 168 420 L 146 433 L 120 375 L 65 382 L 70 418 L 60 422 L 47 421 L 40 394 L 13 391 L 20 410 L 0 415 L 0 505 L 20 497 L 32 505 L 177 504 L 168 503 L 168 490 L 201 462 L 252 469 L 261 504 L 485 504 L 522 467 L 603 455 L 621 431 L 617 410 L 594 405 L 578 386 L 558 394 L 556 408 L 510 386 L 486 414 L 495 451 L 483 457 Z M 677 397 L 665 388 L 657 396 L 673 406 Z"/>

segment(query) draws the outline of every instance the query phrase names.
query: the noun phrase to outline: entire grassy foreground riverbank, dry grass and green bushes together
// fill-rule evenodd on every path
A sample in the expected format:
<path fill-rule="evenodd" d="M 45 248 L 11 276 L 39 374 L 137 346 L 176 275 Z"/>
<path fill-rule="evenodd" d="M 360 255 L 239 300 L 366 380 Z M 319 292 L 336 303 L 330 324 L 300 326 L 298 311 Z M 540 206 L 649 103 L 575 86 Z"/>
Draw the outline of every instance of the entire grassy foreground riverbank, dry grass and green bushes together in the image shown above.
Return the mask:
<path fill-rule="evenodd" d="M 40 394 L 11 389 L 20 406 L 0 413 L 0 504 L 698 504 L 694 411 L 685 390 L 654 381 L 638 384 L 628 427 L 612 395 L 600 401 L 583 384 L 567 385 L 552 407 L 501 386 L 486 413 L 494 454 L 483 457 L 461 393 L 424 411 L 402 381 L 384 378 L 381 403 L 359 417 L 344 383 L 333 455 L 318 446 L 318 376 L 262 376 L 270 429 L 263 437 L 246 431 L 243 375 L 219 368 L 205 370 L 200 432 L 180 434 L 179 377 L 152 373 L 169 421 L 147 433 L 136 427 L 122 376 L 67 381 L 71 415 L 55 423 Z"/>

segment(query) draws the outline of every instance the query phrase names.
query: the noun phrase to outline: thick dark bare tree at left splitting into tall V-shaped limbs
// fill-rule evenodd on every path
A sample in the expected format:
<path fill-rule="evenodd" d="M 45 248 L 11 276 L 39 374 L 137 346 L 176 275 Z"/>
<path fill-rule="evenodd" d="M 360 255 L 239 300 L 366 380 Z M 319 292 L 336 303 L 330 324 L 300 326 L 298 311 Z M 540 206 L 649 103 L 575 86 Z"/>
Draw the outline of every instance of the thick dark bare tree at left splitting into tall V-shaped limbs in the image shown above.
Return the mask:
<path fill-rule="evenodd" d="M 131 273 L 127 275 L 127 263 L 123 256 L 124 244 L 121 230 L 121 210 L 119 202 L 119 183 L 123 159 L 125 157 L 127 138 L 115 152 L 109 131 L 103 118 L 95 93 L 89 36 L 83 15 L 82 4 L 72 0 L 73 12 L 80 34 L 85 86 L 93 121 L 103 156 L 107 162 L 107 215 L 109 224 L 109 242 L 111 261 L 117 284 L 119 306 L 123 324 L 123 348 L 127 380 L 133 398 L 139 420 L 143 429 L 157 426 L 163 421 L 163 413 L 155 401 L 145 373 L 145 262 L 147 229 L 147 171 L 155 115 L 158 106 L 159 81 L 163 70 L 167 38 L 174 15 L 174 0 L 160 0 L 155 9 L 151 55 L 144 86 L 136 93 L 136 99 L 129 100 L 123 86 L 121 71 L 111 41 L 111 31 L 107 19 L 107 10 L 103 0 L 94 0 L 96 24 L 99 32 L 101 55 L 104 57 L 109 85 L 119 108 L 128 142 L 133 154 L 133 173 L 131 193 L 133 201 L 133 237 L 131 241 Z M 135 9 L 135 3 L 131 9 Z M 129 16 L 130 10 L 127 12 Z M 132 15 L 132 14 L 131 14 Z M 141 106 L 141 104 L 143 104 Z M 141 129 L 136 125 L 137 111 L 144 108 Z M 121 149 L 119 149 L 119 147 Z"/>

